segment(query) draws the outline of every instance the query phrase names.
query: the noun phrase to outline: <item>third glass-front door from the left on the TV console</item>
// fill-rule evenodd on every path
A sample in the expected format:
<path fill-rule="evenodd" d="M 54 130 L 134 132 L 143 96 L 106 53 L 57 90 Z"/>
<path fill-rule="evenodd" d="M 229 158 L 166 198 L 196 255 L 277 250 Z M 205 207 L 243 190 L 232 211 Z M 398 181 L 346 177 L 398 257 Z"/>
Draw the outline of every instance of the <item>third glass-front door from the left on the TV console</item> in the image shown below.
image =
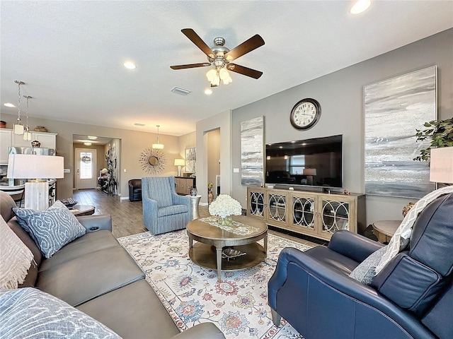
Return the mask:
<path fill-rule="evenodd" d="M 294 232 L 302 234 L 318 234 L 316 230 L 316 219 L 318 217 L 318 197 L 310 194 L 290 194 L 292 218 L 289 221 L 289 228 Z"/>

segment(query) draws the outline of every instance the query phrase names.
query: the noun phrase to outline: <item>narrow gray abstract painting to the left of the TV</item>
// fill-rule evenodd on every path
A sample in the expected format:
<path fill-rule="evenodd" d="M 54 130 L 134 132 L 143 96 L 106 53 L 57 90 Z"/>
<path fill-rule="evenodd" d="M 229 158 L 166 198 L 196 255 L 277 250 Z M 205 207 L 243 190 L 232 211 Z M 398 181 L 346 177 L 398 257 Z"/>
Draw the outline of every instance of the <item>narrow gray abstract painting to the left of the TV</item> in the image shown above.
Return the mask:
<path fill-rule="evenodd" d="M 241 184 L 264 183 L 264 117 L 241 122 Z"/>

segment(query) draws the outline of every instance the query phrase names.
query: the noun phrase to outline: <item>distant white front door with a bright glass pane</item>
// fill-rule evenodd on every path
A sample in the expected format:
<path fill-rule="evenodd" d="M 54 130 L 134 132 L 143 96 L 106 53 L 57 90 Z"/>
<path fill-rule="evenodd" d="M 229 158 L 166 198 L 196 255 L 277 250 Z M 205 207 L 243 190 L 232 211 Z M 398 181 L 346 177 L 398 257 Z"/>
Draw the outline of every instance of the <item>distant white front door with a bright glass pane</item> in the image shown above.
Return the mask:
<path fill-rule="evenodd" d="M 77 189 L 96 189 L 96 150 L 76 148 Z"/>

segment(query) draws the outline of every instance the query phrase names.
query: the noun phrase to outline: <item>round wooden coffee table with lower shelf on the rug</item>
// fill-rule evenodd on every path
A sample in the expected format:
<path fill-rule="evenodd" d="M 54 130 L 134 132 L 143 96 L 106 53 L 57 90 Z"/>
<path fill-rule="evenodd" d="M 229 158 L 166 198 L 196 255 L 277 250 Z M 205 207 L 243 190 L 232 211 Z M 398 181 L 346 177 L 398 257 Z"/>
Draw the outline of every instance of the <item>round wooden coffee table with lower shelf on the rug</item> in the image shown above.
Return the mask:
<path fill-rule="evenodd" d="M 268 225 L 262 220 L 243 215 L 234 216 L 233 220 L 246 226 L 254 227 L 249 234 L 237 234 L 211 225 L 202 220 L 192 220 L 187 225 L 189 236 L 189 257 L 197 265 L 217 269 L 217 280 L 222 280 L 222 270 L 241 270 L 258 265 L 266 258 L 268 251 Z M 258 240 L 264 239 L 264 247 Z M 197 243 L 193 244 L 193 240 Z M 222 249 L 231 247 L 243 255 L 234 258 L 222 258 Z"/>

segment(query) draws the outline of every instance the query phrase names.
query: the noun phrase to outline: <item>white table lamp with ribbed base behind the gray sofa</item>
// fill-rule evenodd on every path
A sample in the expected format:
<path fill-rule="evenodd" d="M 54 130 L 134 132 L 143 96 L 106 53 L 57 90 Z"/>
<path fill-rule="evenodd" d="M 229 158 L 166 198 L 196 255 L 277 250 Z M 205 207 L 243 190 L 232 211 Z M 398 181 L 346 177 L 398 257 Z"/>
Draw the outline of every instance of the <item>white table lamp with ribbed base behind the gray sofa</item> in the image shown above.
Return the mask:
<path fill-rule="evenodd" d="M 46 210 L 49 207 L 47 179 L 64 177 L 63 165 L 64 157 L 10 154 L 6 177 L 28 179 L 28 182 L 25 182 L 25 208 Z"/>

